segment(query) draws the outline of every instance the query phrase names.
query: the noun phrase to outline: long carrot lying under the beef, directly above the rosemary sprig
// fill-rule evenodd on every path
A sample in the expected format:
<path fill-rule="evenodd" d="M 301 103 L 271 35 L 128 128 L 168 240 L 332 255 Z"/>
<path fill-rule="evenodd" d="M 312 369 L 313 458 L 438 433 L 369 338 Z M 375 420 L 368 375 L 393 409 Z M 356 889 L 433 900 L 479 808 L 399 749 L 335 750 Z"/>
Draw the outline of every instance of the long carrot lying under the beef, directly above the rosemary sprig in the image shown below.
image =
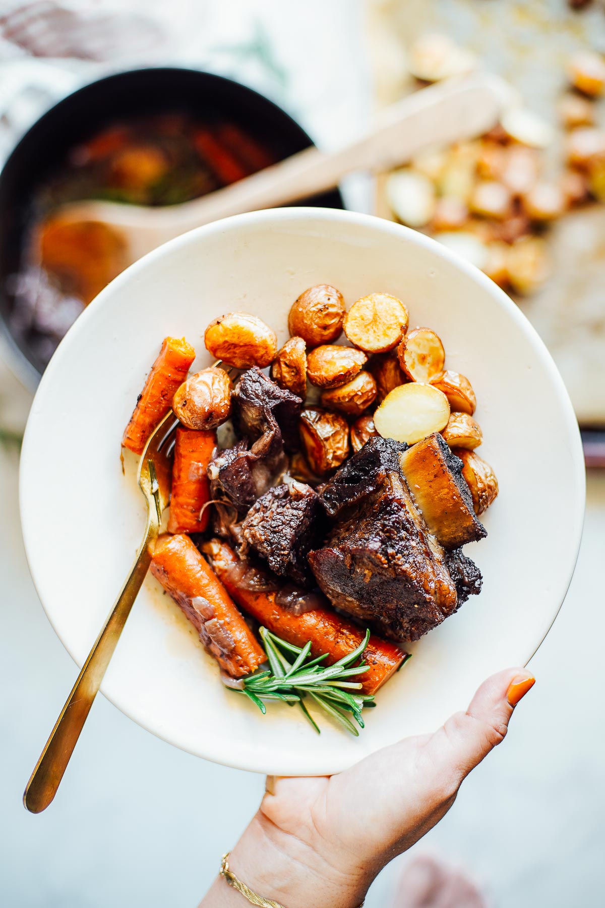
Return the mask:
<path fill-rule="evenodd" d="M 288 608 L 278 605 L 275 592 L 262 593 L 239 587 L 236 573 L 230 569 L 238 564 L 238 557 L 226 543 L 212 539 L 202 548 L 229 595 L 272 634 L 294 646 L 305 646 L 310 640 L 314 656 L 327 653 L 327 665 L 337 662 L 363 641 L 365 634 L 360 627 L 329 608 L 314 608 L 302 615 L 293 615 Z M 395 643 L 372 635 L 363 657 L 370 667 L 359 676 L 359 681 L 364 694 L 374 694 L 402 664 L 405 653 Z"/>

